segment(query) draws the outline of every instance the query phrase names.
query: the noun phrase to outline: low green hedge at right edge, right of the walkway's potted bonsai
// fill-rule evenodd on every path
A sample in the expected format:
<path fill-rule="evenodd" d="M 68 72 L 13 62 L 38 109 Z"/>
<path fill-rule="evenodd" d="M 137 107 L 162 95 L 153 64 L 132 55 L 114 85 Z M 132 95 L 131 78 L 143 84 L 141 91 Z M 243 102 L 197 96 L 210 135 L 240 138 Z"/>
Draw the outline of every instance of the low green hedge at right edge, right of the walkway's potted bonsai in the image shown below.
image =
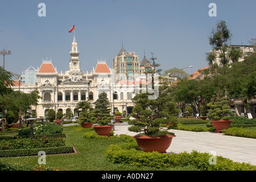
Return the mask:
<path fill-rule="evenodd" d="M 222 133 L 235 137 L 256 138 L 256 131 L 245 130 L 241 127 L 230 127 L 229 129 L 222 130 Z"/>

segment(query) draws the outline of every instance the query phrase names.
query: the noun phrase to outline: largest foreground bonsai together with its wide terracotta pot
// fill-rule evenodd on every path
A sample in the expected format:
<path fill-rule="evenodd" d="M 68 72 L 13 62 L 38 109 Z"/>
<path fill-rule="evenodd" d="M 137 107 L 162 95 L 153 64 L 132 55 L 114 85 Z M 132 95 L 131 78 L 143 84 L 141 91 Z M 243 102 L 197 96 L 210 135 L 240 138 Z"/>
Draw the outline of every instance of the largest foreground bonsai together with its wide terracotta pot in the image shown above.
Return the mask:
<path fill-rule="evenodd" d="M 148 99 L 149 93 L 139 93 L 133 98 L 135 106 L 129 120 L 129 131 L 138 133 L 134 136 L 139 148 L 144 152 L 166 152 L 170 147 L 174 133 L 166 129 L 166 124 L 172 122 L 172 115 L 179 113 L 175 102 L 172 101 L 170 86 L 159 85 L 158 98 Z M 143 117 L 141 117 L 143 116 Z"/>

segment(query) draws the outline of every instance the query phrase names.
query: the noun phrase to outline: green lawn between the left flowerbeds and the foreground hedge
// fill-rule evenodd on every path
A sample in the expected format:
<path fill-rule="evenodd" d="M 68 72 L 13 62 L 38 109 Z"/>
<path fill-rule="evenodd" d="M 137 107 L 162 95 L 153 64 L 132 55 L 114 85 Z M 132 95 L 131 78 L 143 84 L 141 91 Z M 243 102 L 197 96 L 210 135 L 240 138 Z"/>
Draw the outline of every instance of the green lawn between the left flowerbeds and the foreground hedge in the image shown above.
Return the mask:
<path fill-rule="evenodd" d="M 76 130 L 79 129 L 79 130 Z M 16 132 L 16 133 L 15 133 Z M 64 133 L 68 135 L 65 142 L 68 146 L 72 144 L 77 150 L 77 154 L 46 155 L 46 167 L 60 168 L 67 171 L 155 171 L 155 170 L 197 170 L 196 167 L 175 167 L 175 168 L 150 168 L 125 166 L 123 164 L 113 164 L 106 160 L 104 152 L 110 144 L 121 144 L 119 138 L 112 139 L 85 139 L 83 138 L 84 129 L 80 125 L 64 127 Z M 7 131 L 5 136 L 13 137 L 18 131 Z M 3 133 L 0 135 L 3 139 Z M 23 166 L 38 165 L 39 156 L 23 156 L 13 158 L 0 158 L 0 163 L 19 164 Z"/>

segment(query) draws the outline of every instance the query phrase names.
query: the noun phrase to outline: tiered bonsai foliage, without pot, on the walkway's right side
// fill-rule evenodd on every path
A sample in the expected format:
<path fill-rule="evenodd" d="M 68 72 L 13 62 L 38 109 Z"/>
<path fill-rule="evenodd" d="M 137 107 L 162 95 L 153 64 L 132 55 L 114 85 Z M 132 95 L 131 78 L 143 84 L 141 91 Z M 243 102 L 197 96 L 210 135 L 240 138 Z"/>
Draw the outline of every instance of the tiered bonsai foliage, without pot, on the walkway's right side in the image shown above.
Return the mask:
<path fill-rule="evenodd" d="M 215 92 L 207 106 L 210 107 L 207 115 L 212 121 L 227 121 L 229 120 L 230 114 L 232 114 L 232 112 L 229 110 L 230 106 L 228 100 L 226 100 L 226 97 L 224 97 L 224 94 L 222 94 L 220 91 Z"/>

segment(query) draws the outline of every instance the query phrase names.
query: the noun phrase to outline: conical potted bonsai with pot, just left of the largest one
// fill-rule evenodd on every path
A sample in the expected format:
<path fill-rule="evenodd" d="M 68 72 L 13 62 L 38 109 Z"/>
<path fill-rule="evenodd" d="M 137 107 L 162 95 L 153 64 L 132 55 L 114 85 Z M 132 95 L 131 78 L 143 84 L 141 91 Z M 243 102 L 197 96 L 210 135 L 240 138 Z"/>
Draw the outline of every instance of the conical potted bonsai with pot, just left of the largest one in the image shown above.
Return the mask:
<path fill-rule="evenodd" d="M 113 124 L 111 123 L 113 117 L 110 115 L 110 103 L 106 93 L 101 93 L 94 104 L 95 107 L 91 111 L 91 119 L 94 119 L 98 125 L 93 126 L 93 129 L 98 135 L 110 137 L 109 134 L 113 129 Z"/>

